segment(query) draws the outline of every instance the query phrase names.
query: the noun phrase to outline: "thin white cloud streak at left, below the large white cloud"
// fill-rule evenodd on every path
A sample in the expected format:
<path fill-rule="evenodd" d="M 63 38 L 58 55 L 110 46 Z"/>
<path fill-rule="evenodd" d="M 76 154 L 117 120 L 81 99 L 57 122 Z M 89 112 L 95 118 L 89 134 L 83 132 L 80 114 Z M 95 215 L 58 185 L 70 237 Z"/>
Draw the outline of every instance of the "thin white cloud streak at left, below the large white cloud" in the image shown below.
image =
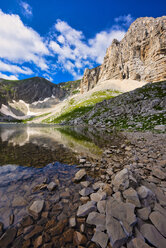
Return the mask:
<path fill-rule="evenodd" d="M 17 65 L 4 63 L 1 60 L 0 60 L 0 71 L 7 71 L 7 72 L 16 73 L 16 74 L 22 73 L 25 75 L 30 75 L 33 73 L 32 70 L 28 67 L 19 67 Z"/>

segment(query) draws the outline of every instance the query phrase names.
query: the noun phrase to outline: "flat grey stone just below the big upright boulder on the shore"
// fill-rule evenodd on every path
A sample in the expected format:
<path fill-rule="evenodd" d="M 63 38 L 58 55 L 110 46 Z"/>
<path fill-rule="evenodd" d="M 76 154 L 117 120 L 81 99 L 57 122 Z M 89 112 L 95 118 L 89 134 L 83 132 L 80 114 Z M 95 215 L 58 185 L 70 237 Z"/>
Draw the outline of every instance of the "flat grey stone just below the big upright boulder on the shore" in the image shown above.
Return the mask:
<path fill-rule="evenodd" d="M 137 192 L 133 188 L 129 188 L 123 192 L 123 196 L 126 199 L 126 202 L 134 204 L 136 207 L 141 207 L 139 197 Z"/>

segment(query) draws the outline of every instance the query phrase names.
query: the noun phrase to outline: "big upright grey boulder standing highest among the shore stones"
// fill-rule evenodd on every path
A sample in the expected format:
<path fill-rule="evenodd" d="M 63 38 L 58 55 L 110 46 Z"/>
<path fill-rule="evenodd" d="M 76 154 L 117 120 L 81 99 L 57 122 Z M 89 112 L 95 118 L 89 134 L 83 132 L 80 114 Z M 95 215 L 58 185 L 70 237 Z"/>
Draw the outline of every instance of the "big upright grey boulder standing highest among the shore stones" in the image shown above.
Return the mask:
<path fill-rule="evenodd" d="M 112 182 L 114 186 L 114 191 L 125 190 L 129 187 L 129 171 L 124 168 L 118 172 Z"/>

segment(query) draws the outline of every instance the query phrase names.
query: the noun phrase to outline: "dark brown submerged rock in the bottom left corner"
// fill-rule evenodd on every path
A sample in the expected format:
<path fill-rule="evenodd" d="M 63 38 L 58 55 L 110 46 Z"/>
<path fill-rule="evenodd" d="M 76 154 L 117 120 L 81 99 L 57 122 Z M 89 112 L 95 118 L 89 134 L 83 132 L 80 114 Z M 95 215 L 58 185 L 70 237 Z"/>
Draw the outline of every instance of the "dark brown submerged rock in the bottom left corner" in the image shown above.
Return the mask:
<path fill-rule="evenodd" d="M 17 230 L 16 228 L 8 229 L 1 237 L 0 237 L 0 247 L 5 248 L 10 245 L 14 238 L 16 237 Z"/>

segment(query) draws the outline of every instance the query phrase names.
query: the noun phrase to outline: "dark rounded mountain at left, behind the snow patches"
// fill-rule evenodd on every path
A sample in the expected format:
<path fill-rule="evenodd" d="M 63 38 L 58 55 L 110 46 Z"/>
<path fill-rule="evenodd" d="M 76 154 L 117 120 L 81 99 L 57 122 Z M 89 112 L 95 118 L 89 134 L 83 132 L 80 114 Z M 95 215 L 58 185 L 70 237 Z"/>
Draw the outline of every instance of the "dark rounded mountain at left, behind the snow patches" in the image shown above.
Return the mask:
<path fill-rule="evenodd" d="M 13 100 L 33 103 L 51 96 L 61 100 L 65 95 L 64 89 L 41 77 L 16 81 L 0 79 L 0 106 Z"/>

